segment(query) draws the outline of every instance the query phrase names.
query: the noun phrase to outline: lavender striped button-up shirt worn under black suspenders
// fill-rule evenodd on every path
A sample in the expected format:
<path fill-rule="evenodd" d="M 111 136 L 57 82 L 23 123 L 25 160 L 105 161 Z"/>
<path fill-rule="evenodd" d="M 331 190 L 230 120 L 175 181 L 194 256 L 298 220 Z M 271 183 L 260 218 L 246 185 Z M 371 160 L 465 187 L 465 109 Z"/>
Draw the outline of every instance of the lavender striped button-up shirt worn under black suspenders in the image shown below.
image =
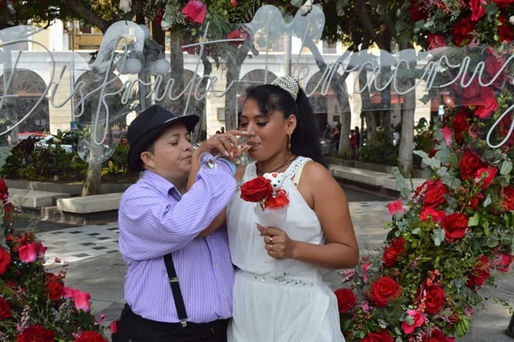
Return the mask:
<path fill-rule="evenodd" d="M 125 301 L 137 315 L 178 322 L 164 266 L 173 263 L 188 321 L 204 323 L 232 317 L 234 268 L 226 229 L 197 237 L 225 208 L 236 181 L 225 162 L 202 166 L 197 181 L 183 196 L 151 171 L 123 193 L 119 208 L 119 248 L 127 263 Z"/>

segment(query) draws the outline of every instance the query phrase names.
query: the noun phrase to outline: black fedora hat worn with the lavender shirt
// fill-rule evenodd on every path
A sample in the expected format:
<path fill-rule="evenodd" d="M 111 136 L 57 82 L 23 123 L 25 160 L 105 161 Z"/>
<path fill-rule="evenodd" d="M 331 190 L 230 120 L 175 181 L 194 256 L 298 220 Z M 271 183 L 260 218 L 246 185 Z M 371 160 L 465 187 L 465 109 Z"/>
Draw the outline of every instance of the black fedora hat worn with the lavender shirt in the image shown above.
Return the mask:
<path fill-rule="evenodd" d="M 196 115 L 177 115 L 165 110 L 159 105 L 154 105 L 141 112 L 130 123 L 127 131 L 127 141 L 130 145 L 128 164 L 132 171 L 143 171 L 141 152 L 154 143 L 162 131 L 176 123 L 184 123 L 189 132 L 192 132 L 199 121 Z"/>

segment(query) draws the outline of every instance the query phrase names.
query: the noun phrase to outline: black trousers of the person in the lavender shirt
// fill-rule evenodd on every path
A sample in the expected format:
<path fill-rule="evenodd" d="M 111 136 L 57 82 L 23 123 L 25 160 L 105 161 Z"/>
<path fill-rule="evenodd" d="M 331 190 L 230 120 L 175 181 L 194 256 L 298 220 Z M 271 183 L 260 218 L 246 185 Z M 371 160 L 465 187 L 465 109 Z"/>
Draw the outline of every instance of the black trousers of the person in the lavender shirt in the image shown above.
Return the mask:
<path fill-rule="evenodd" d="M 228 319 L 208 323 L 181 323 L 151 321 L 136 315 L 125 304 L 118 322 L 118 331 L 112 342 L 226 342 Z"/>

